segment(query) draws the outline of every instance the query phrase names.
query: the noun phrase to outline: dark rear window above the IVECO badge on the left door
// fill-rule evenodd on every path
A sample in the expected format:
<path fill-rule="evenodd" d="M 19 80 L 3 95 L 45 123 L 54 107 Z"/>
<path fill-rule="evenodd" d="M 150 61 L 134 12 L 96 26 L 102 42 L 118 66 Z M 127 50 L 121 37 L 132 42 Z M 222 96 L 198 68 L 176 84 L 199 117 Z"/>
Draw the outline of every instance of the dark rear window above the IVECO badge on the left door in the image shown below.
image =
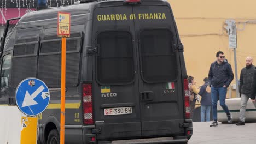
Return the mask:
<path fill-rule="evenodd" d="M 133 74 L 133 47 L 129 32 L 101 32 L 97 38 L 97 79 L 100 83 L 129 83 Z"/>

